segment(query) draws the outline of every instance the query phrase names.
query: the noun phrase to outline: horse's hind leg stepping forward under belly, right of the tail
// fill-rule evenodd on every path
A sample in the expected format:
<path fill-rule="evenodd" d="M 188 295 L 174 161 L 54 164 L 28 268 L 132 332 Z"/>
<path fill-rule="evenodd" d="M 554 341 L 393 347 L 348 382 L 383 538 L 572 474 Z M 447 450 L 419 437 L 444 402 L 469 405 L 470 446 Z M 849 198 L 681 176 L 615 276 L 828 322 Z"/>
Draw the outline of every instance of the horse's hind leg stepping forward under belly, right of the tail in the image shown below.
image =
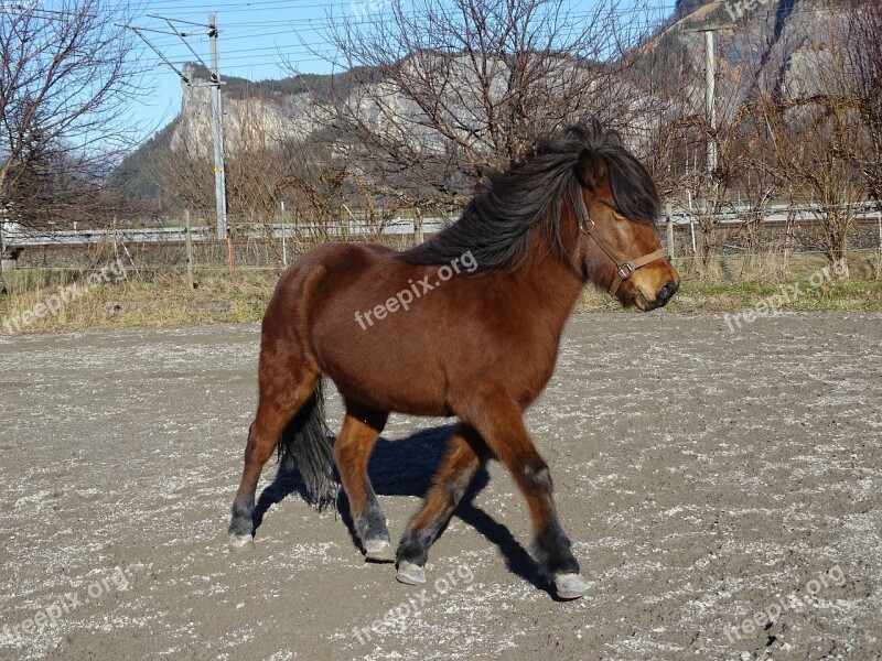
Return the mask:
<path fill-rule="evenodd" d="M 365 557 L 376 562 L 395 560 L 386 516 L 367 476 L 370 452 L 388 418 L 387 412 L 346 402 L 346 418 L 334 443 L 334 463 L 349 500 L 355 532 L 364 546 Z"/>

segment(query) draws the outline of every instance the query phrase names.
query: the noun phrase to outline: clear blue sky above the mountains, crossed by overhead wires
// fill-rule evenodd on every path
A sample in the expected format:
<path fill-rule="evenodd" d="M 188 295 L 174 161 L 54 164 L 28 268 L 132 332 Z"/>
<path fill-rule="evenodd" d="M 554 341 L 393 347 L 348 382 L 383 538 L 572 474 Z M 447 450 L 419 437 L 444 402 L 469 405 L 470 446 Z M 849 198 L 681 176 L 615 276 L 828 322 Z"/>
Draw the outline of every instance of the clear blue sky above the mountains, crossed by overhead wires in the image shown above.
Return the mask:
<path fill-rule="evenodd" d="M 588 12 L 599 2 L 611 0 L 572 0 L 574 13 Z M 622 12 L 634 13 L 647 20 L 670 15 L 675 0 L 612 0 Z M 169 30 L 169 25 L 147 14 L 207 23 L 208 13 L 217 14 L 220 26 L 218 41 L 220 75 L 233 75 L 251 80 L 282 78 L 289 75 L 283 62 L 290 59 L 303 73 L 329 73 L 330 65 L 310 50 L 327 51 L 322 28 L 329 20 L 342 20 L 358 12 L 370 12 L 384 0 L 256 0 L 243 2 L 218 0 L 151 0 L 149 9 L 133 21 L 139 28 Z M 196 25 L 176 24 L 182 30 L 198 31 Z M 147 36 L 176 66 L 192 61 L 193 55 L 181 40 L 173 35 L 146 33 Z M 194 35 L 187 43 L 207 63 L 208 37 Z M 181 107 L 181 83 L 178 75 L 162 64 L 148 46 L 143 46 L 146 64 L 150 67 L 146 86 L 150 100 L 135 109 L 136 118 L 143 123 L 146 136 L 165 126 Z"/>

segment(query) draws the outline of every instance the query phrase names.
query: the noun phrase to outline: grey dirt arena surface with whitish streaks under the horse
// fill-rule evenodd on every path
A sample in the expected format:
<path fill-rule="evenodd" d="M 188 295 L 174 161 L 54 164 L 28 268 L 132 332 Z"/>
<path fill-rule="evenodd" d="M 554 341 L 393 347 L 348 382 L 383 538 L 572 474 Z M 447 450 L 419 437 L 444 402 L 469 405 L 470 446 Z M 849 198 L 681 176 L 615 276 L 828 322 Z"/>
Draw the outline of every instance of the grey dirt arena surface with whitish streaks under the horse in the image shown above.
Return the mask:
<path fill-rule="evenodd" d="M 528 414 L 591 590 L 559 602 L 492 463 L 423 588 L 297 481 L 228 509 L 259 329 L 0 339 L 2 659 L 879 659 L 882 315 L 579 315 Z M 332 389 L 329 389 L 332 390 Z M 342 420 L 330 395 L 329 422 Z M 392 416 L 395 539 L 448 420 Z M 774 621 L 771 621 L 774 620 Z"/>

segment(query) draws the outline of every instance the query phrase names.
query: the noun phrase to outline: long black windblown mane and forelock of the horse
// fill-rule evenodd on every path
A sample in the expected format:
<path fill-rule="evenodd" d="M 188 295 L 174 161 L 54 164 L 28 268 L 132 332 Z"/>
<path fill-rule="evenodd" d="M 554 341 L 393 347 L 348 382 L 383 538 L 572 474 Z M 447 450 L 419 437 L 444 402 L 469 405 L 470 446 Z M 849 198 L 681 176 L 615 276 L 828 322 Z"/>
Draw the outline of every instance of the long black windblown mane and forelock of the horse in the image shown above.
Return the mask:
<path fill-rule="evenodd" d="M 581 193 L 577 165 L 583 150 L 606 164 L 619 210 L 632 220 L 655 223 L 660 202 L 649 173 L 622 147 L 621 136 L 595 119 L 538 141 L 505 172 L 491 172 L 456 223 L 398 258 L 444 264 L 471 251 L 477 271 L 493 271 L 517 268 L 535 231 L 560 245 L 562 205 L 572 205 Z"/>

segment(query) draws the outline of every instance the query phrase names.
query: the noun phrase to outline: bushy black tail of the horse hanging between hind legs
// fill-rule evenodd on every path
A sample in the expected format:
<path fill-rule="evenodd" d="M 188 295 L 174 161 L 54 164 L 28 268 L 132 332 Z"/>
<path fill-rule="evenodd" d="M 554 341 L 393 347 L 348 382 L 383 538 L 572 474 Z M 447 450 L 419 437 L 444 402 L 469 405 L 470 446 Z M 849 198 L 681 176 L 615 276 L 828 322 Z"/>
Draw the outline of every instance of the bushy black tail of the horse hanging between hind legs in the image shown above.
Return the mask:
<path fill-rule="evenodd" d="M 279 475 L 297 468 L 306 485 L 306 492 L 321 509 L 334 500 L 334 454 L 324 419 L 322 382 L 294 414 L 279 436 Z"/>

